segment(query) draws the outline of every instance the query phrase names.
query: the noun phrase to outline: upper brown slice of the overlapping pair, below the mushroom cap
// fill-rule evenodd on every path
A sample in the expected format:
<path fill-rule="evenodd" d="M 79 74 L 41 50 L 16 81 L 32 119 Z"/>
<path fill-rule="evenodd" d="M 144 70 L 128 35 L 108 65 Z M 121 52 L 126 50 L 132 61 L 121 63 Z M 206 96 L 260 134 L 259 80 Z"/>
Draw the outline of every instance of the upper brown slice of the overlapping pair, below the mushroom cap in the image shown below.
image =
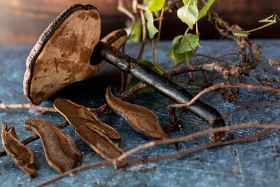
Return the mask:
<path fill-rule="evenodd" d="M 87 124 L 87 126 L 106 134 L 110 139 L 120 139 L 120 134 L 117 130 L 103 123 L 94 113 L 88 111 L 85 106 L 62 98 L 55 99 L 53 106 L 75 128 Z"/>

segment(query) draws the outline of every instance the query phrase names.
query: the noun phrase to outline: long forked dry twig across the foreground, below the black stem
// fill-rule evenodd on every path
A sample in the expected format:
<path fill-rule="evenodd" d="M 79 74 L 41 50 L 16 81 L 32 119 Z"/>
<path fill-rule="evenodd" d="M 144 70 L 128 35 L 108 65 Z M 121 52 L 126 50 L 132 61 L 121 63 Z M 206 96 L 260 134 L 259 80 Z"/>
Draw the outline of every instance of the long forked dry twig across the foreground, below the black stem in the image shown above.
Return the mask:
<path fill-rule="evenodd" d="M 187 140 L 187 139 L 194 139 L 195 137 L 198 137 L 202 134 L 209 134 L 210 132 L 214 132 L 217 130 L 233 130 L 233 129 L 239 129 L 239 128 L 244 128 L 244 127 L 261 127 L 261 128 L 268 128 L 267 130 L 260 132 L 259 134 L 255 134 L 251 137 L 243 137 L 240 139 L 233 139 L 233 140 L 228 140 L 228 141 L 214 141 L 211 142 L 209 144 L 204 144 L 202 146 L 197 146 L 195 148 L 190 148 L 186 151 L 182 151 L 180 153 L 174 153 L 171 155 L 160 155 L 160 156 L 156 156 L 153 158 L 145 158 L 145 159 L 127 159 L 127 157 L 129 155 L 132 155 L 133 153 L 137 153 L 139 151 L 143 151 L 146 148 L 151 148 L 152 146 L 155 145 L 160 145 L 160 144 L 169 144 L 172 142 L 179 142 L 179 141 L 183 141 L 183 140 Z M 43 181 L 43 183 L 39 183 L 37 185 L 38 186 L 45 186 L 48 185 L 50 183 L 54 183 L 55 181 L 58 181 L 60 179 L 63 179 L 66 176 L 71 176 L 73 173 L 76 172 L 80 172 L 86 169 L 92 169 L 95 167 L 102 167 L 102 166 L 106 166 L 106 165 L 114 165 L 115 167 L 118 166 L 120 164 L 120 162 L 125 162 L 128 164 L 132 164 L 132 163 L 146 163 L 146 162 L 155 162 L 158 160 L 165 160 L 165 159 L 172 159 L 172 158 L 181 158 L 183 155 L 188 155 L 190 153 L 195 153 L 196 151 L 200 151 L 202 149 L 206 149 L 206 148 L 211 148 L 214 146 L 225 146 L 225 145 L 229 145 L 229 144 L 240 144 L 240 143 L 244 143 L 244 142 L 249 142 L 249 141 L 258 141 L 260 139 L 260 137 L 264 136 L 265 134 L 267 134 L 271 129 L 279 129 L 280 128 L 280 124 L 274 124 L 274 125 L 262 125 L 261 123 L 248 123 L 248 124 L 241 124 L 241 125 L 235 125 L 235 126 L 230 126 L 230 127 L 220 127 L 220 128 L 215 128 L 215 129 L 210 129 L 210 130 L 204 130 L 202 132 L 197 132 L 195 134 L 190 134 L 188 136 L 185 137 L 179 137 L 179 138 L 174 138 L 174 139 L 167 139 L 167 140 L 160 140 L 160 141 L 151 141 L 148 144 L 144 144 L 142 146 L 139 146 L 137 148 L 134 148 L 130 151 L 127 151 L 126 153 L 124 153 L 123 155 L 121 155 L 119 158 L 117 158 L 116 160 L 108 160 L 108 161 L 104 161 L 104 162 L 95 162 L 95 163 L 91 163 L 88 165 L 81 165 L 80 167 L 76 167 L 75 169 L 71 169 L 68 172 L 64 172 L 64 174 L 60 174 L 59 176 L 50 179 L 48 181 Z"/>

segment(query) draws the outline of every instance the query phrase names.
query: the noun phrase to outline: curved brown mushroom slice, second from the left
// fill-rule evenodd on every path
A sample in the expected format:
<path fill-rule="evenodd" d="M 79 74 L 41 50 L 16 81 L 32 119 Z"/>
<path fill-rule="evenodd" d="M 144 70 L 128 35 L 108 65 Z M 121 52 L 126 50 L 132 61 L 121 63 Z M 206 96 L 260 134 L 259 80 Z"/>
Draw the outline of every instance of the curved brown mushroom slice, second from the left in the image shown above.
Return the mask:
<path fill-rule="evenodd" d="M 48 165 L 56 172 L 61 174 L 77 165 L 81 154 L 69 134 L 41 119 L 28 119 L 25 127 L 41 138 Z"/>

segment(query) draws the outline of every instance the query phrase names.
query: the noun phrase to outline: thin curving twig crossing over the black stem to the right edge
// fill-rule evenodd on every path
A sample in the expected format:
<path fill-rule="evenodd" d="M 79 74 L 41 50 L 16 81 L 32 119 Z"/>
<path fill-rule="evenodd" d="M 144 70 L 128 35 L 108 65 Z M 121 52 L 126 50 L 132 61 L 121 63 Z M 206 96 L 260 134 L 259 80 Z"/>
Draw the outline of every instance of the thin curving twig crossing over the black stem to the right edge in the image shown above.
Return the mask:
<path fill-rule="evenodd" d="M 205 95 L 208 92 L 211 92 L 212 90 L 217 90 L 217 89 L 220 89 L 220 88 L 246 88 L 246 89 L 265 90 L 265 91 L 269 91 L 269 92 L 280 93 L 280 89 L 271 88 L 271 87 L 267 87 L 267 86 L 263 86 L 263 85 L 248 85 L 248 84 L 244 84 L 244 83 L 239 83 L 239 84 L 218 83 L 216 85 L 212 85 L 209 88 L 206 88 L 206 89 L 202 90 L 202 92 L 195 95 L 195 97 L 193 97 L 193 99 L 191 99 L 190 102 L 188 102 L 188 103 L 172 104 L 170 106 L 175 107 L 175 108 L 188 107 L 188 106 L 194 104 L 197 101 L 197 99 L 200 99 L 200 97 L 202 97 L 202 95 Z"/>

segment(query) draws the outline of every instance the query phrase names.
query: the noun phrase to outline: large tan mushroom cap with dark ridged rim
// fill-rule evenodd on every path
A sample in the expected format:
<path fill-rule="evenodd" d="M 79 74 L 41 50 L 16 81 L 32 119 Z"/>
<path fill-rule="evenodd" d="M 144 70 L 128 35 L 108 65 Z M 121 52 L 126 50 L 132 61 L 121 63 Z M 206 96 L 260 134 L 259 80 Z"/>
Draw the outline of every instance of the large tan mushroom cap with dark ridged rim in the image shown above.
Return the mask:
<path fill-rule="evenodd" d="M 90 64 L 100 32 L 101 20 L 95 6 L 77 4 L 58 15 L 27 57 L 23 81 L 27 99 L 40 104 L 71 83 L 94 76 L 105 64 Z M 125 40 L 126 33 L 119 30 L 103 41 L 118 48 Z"/>

